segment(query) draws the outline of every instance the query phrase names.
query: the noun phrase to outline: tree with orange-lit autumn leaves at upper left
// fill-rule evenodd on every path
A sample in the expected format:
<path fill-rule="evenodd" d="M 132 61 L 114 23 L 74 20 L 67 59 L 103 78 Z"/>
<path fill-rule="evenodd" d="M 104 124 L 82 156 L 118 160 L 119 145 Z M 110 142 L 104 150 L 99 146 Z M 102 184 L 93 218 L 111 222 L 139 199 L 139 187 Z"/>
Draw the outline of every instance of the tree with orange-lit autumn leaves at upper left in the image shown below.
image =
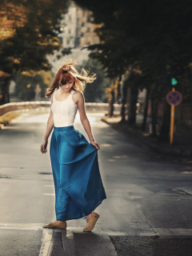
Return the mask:
<path fill-rule="evenodd" d="M 30 70 L 50 70 L 47 54 L 61 47 L 57 38 L 62 14 L 70 0 L 6 0 L 1 2 L 0 79 L 2 100 L 13 74 Z M 49 14 L 49 15 L 47 15 Z M 9 78 L 9 79 L 8 79 Z"/>

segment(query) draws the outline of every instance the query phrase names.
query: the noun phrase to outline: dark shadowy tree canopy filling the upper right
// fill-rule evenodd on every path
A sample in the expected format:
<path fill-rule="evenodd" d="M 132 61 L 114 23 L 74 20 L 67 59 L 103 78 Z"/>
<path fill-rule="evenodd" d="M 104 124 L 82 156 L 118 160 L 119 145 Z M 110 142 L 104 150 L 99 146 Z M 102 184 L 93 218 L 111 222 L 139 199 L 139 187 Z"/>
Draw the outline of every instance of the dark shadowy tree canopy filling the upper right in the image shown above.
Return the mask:
<path fill-rule="evenodd" d="M 93 50 L 90 57 L 102 62 L 108 77 L 125 74 L 138 63 L 142 79 L 135 78 L 139 83 L 134 84 L 150 87 L 152 98 L 165 98 L 173 77 L 178 81 L 176 90 L 184 86 L 182 77 L 190 71 L 192 59 L 190 0 L 75 2 L 91 10 L 93 22 L 100 24 L 96 32 L 101 43 L 88 49 Z"/>

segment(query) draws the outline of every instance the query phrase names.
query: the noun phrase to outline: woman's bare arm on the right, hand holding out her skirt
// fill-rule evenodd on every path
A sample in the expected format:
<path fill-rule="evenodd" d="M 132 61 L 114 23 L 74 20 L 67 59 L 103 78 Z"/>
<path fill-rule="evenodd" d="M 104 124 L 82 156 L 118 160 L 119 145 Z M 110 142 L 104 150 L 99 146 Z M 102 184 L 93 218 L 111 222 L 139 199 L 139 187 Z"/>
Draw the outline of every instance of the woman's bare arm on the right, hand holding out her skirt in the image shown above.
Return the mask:
<path fill-rule="evenodd" d="M 90 122 L 86 116 L 86 110 L 85 110 L 85 98 L 81 92 L 78 92 L 77 94 L 74 94 L 75 98 L 77 99 L 77 105 L 78 105 L 78 112 L 80 115 L 80 120 L 82 122 L 82 126 L 86 130 L 86 134 L 88 135 L 90 139 L 90 143 L 93 144 L 98 150 L 100 149 L 100 146 L 97 142 L 94 142 L 94 136 L 91 132 L 90 128 Z"/>

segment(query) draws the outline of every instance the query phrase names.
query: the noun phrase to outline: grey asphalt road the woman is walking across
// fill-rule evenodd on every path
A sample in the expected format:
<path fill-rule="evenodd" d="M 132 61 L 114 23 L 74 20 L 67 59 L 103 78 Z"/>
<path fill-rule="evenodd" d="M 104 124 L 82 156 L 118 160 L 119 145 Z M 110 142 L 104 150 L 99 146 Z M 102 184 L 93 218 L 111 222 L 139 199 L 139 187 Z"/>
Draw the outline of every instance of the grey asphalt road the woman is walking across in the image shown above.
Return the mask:
<path fill-rule="evenodd" d="M 89 234 L 85 219 L 42 230 L 55 219 L 50 144 L 39 150 L 48 114 L 26 112 L 0 130 L 1 256 L 192 255 L 192 159 L 141 148 L 102 115 L 87 114 L 107 196 Z M 74 127 L 88 138 L 78 115 Z"/>

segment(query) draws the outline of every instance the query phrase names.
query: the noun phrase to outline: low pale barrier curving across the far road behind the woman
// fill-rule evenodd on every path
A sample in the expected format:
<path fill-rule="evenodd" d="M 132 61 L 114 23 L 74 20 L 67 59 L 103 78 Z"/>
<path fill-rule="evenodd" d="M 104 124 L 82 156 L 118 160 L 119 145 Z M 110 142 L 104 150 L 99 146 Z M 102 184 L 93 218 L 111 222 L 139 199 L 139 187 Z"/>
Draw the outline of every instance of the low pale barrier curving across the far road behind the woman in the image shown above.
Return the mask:
<path fill-rule="evenodd" d="M 12 111 L 18 110 L 32 110 L 37 109 L 39 107 L 50 107 L 50 103 L 48 101 L 40 101 L 40 102 L 10 102 L 0 106 L 0 117 L 4 114 L 7 114 Z M 87 111 L 108 111 L 109 104 L 108 103 L 96 103 L 96 102 L 86 102 L 85 107 Z M 114 111 L 120 111 L 121 104 L 114 104 Z"/>

